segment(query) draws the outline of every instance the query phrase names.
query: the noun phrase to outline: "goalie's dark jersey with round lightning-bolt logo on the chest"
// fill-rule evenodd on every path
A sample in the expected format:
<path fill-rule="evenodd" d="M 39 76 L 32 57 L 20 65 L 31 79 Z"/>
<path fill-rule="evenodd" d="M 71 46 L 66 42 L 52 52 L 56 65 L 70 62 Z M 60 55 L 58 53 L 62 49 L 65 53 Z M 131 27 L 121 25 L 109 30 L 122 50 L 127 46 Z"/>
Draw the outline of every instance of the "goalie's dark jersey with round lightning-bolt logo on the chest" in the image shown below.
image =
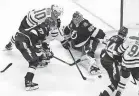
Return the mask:
<path fill-rule="evenodd" d="M 70 38 L 72 39 L 74 46 L 81 47 L 84 44 L 86 44 L 88 40 L 90 40 L 90 37 L 100 39 L 104 37 L 105 33 L 100 31 L 101 30 L 94 27 L 88 20 L 84 19 L 79 23 L 78 26 L 76 26 L 71 21 L 71 23 L 64 29 L 64 34 L 65 35 L 70 34 Z"/>

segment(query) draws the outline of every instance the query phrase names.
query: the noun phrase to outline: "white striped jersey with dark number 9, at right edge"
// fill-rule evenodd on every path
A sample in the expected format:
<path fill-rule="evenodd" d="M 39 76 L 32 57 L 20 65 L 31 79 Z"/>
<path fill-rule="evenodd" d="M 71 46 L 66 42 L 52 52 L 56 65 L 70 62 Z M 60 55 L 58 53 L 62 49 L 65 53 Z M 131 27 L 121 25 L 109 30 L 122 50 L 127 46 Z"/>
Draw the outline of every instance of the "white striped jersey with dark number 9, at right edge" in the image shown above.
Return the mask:
<path fill-rule="evenodd" d="M 139 40 L 127 39 L 118 48 L 118 52 L 123 53 L 122 57 L 123 66 L 127 68 L 139 67 Z"/>

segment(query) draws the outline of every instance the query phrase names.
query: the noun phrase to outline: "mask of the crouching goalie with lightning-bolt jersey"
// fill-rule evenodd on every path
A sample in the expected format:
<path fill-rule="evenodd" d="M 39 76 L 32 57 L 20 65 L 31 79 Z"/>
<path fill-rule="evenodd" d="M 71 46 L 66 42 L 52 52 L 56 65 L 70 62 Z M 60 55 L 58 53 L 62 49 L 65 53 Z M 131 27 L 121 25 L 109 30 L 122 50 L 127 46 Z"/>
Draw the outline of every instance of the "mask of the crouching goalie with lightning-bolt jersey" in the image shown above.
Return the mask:
<path fill-rule="evenodd" d="M 73 13 L 72 21 L 74 24 L 79 24 L 82 20 L 83 20 L 83 15 L 79 11 Z"/>

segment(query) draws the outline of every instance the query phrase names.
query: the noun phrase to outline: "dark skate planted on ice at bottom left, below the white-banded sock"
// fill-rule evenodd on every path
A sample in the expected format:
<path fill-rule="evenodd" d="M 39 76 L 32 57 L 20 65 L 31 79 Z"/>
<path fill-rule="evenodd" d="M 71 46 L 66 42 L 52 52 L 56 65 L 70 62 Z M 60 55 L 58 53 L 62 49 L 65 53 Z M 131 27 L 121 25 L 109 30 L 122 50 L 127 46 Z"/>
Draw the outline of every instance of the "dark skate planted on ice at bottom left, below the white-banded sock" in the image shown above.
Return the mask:
<path fill-rule="evenodd" d="M 25 88 L 26 88 L 26 91 L 32 91 L 32 90 L 38 89 L 39 86 L 37 83 L 33 83 L 32 81 L 25 80 Z"/>

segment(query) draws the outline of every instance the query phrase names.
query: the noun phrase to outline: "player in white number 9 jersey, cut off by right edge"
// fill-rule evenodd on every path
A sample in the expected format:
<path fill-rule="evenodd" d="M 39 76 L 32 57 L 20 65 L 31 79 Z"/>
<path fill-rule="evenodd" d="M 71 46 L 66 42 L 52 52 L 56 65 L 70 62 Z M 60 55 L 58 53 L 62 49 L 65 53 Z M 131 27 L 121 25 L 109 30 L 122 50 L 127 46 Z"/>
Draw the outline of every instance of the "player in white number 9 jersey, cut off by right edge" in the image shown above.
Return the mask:
<path fill-rule="evenodd" d="M 128 38 L 120 45 L 118 52 L 123 55 L 120 82 L 118 83 L 115 96 L 121 96 L 130 78 L 130 74 L 132 74 L 139 85 L 139 36 L 132 36 L 131 39 Z"/>

